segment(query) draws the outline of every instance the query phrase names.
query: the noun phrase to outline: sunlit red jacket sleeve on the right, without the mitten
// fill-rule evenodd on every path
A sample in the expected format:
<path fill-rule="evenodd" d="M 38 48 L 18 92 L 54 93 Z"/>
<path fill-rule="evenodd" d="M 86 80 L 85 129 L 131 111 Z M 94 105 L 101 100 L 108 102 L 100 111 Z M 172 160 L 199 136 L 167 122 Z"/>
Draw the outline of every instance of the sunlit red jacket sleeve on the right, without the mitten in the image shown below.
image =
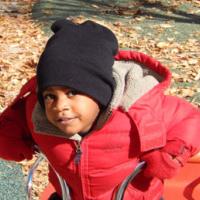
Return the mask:
<path fill-rule="evenodd" d="M 191 155 L 195 154 L 200 150 L 200 110 L 175 96 L 163 96 L 162 102 L 167 142 L 183 141 Z"/>

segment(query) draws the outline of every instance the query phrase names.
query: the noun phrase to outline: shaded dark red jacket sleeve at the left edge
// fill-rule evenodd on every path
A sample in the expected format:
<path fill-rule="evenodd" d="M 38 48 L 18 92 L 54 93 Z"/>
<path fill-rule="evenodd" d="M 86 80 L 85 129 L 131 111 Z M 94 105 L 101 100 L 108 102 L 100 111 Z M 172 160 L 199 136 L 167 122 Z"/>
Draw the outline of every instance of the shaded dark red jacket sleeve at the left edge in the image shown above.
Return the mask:
<path fill-rule="evenodd" d="M 25 100 L 14 101 L 0 115 L 0 158 L 14 161 L 32 158 L 33 142 L 26 123 Z"/>

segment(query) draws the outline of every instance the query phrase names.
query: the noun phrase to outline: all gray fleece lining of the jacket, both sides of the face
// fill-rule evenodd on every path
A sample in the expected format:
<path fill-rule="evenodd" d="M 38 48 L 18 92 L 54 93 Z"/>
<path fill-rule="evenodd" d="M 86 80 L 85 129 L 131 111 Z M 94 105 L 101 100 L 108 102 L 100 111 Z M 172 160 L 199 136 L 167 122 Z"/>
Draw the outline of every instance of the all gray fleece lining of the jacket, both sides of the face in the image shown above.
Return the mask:
<path fill-rule="evenodd" d="M 96 129 L 103 126 L 112 109 L 121 107 L 127 112 L 132 104 L 161 81 L 161 77 L 158 74 L 133 61 L 115 61 L 113 77 L 116 82 L 116 88 L 108 108 L 98 119 Z M 69 138 L 47 120 L 45 112 L 39 103 L 34 108 L 32 120 L 35 131 L 38 133 Z M 75 134 L 69 139 L 80 141 L 81 136 Z"/>

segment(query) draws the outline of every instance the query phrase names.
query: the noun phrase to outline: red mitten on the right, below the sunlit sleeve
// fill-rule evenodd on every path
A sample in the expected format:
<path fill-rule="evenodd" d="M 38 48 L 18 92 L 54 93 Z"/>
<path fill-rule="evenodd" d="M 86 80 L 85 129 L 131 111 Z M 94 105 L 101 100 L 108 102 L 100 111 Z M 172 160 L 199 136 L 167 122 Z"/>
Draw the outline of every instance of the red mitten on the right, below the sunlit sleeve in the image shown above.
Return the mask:
<path fill-rule="evenodd" d="M 142 156 L 141 159 L 146 161 L 146 169 L 143 174 L 147 177 L 159 179 L 172 178 L 184 166 L 190 156 L 191 153 L 184 142 L 180 140 L 169 141 L 165 147 Z"/>

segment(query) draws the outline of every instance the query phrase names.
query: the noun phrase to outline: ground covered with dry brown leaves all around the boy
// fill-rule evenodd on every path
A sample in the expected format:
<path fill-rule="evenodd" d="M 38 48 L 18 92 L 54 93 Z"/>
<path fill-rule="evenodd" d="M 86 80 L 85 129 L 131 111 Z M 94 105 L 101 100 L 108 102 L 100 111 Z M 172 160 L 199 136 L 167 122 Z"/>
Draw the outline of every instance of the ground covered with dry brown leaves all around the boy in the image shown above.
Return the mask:
<path fill-rule="evenodd" d="M 191 1 L 173 2 L 178 6 Z M 190 10 L 190 13 L 200 14 L 200 2 L 192 3 L 196 10 Z M 178 37 L 171 34 L 160 39 L 161 34 L 173 30 L 177 24 L 173 20 L 163 20 L 154 24 L 152 32 L 141 33 L 145 20 L 149 17 L 152 18 L 149 15 L 137 15 L 129 23 L 108 22 L 83 16 L 71 19 L 77 23 L 93 19 L 115 32 L 120 48 L 144 52 L 161 61 L 170 68 L 173 75 L 172 85 L 167 93 L 183 97 L 200 107 L 200 31 L 194 30 L 184 40 L 178 40 Z M 196 26 L 199 27 L 199 24 Z M 31 15 L 0 15 L 0 112 L 13 100 L 21 86 L 35 74 L 39 55 L 49 37 L 43 30 L 43 24 L 31 19 Z M 176 34 L 181 35 L 184 32 L 174 32 Z M 27 174 L 34 160 L 35 158 L 29 162 L 21 162 L 24 174 Z M 37 170 L 33 187 L 34 199 L 38 199 L 39 193 L 48 182 L 47 171 L 46 163 Z"/>

